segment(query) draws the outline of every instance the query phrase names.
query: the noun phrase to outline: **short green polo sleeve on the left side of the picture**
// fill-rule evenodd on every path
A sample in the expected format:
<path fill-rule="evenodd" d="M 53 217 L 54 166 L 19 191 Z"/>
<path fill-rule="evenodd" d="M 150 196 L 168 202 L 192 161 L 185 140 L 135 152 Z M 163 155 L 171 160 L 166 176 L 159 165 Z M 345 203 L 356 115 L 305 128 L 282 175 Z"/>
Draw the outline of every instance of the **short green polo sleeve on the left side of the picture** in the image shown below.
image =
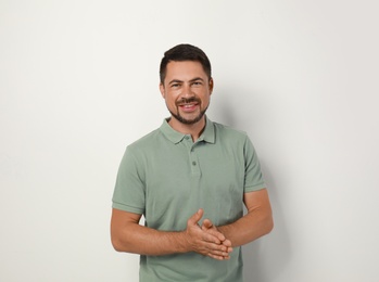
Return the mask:
<path fill-rule="evenodd" d="M 118 168 L 112 207 L 142 215 L 144 213 L 144 187 L 141 164 L 127 148 Z"/>

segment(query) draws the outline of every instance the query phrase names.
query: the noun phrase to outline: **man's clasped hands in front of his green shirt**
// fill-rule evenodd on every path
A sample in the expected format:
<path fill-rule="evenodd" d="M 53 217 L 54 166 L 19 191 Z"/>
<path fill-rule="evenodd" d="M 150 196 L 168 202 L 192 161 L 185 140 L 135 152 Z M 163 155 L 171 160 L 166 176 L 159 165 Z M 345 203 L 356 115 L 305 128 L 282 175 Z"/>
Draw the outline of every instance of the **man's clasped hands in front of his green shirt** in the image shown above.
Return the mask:
<path fill-rule="evenodd" d="M 190 249 L 214 259 L 229 259 L 232 252 L 231 242 L 209 219 L 204 219 L 200 227 L 198 222 L 203 214 L 203 209 L 200 208 L 187 221 L 185 234 Z"/>

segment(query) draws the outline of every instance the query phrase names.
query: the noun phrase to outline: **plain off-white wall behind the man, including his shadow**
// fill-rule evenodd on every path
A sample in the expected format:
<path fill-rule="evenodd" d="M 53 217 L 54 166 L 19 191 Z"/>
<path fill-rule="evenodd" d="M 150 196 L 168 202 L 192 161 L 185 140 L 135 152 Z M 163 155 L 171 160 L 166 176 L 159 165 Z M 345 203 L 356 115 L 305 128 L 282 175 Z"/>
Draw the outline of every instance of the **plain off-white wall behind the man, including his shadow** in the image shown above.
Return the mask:
<path fill-rule="evenodd" d="M 125 146 L 168 115 L 163 52 L 213 62 L 209 116 L 249 132 L 275 230 L 247 281 L 378 281 L 377 1 L 0 1 L 0 280 L 138 281 L 110 243 Z M 195 270 L 194 270 L 195 271 Z"/>

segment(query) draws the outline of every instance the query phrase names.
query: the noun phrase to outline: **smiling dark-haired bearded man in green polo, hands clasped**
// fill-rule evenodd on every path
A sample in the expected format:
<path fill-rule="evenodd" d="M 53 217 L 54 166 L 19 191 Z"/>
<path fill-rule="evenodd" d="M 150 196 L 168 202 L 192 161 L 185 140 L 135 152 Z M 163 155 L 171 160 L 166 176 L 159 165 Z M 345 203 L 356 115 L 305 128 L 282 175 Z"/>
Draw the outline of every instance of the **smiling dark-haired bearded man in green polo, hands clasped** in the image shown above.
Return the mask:
<path fill-rule="evenodd" d="M 205 116 L 214 81 L 202 50 L 168 50 L 160 76 L 170 117 L 126 149 L 113 195 L 113 246 L 141 255 L 143 282 L 240 282 L 240 246 L 273 229 L 257 156 L 244 132 Z"/>

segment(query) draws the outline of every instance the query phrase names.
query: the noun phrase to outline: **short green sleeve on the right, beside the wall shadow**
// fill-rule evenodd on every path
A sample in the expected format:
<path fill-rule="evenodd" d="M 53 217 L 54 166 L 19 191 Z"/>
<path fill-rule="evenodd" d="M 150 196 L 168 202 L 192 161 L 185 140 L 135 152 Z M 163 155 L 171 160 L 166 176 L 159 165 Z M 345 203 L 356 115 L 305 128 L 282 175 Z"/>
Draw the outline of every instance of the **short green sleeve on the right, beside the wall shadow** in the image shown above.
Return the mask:
<path fill-rule="evenodd" d="M 243 154 L 244 193 L 264 189 L 266 184 L 262 175 L 260 159 L 248 136 L 244 142 Z"/>

